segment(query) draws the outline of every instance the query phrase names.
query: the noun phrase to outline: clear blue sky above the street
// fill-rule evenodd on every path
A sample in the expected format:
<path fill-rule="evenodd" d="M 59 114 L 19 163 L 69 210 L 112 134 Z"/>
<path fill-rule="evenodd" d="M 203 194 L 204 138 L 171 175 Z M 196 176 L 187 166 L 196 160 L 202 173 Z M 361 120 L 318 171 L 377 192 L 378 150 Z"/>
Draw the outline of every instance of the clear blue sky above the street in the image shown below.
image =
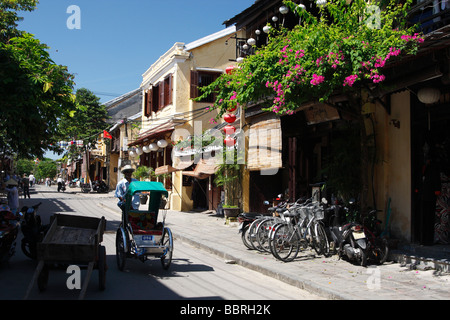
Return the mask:
<path fill-rule="evenodd" d="M 225 20 L 255 0 L 41 0 L 21 12 L 19 29 L 50 47 L 57 64 L 75 74 L 102 102 L 137 89 L 142 74 L 175 42 L 189 43 L 222 30 Z M 81 29 L 69 29 L 80 9 Z M 112 94 L 112 95 L 104 95 Z"/>

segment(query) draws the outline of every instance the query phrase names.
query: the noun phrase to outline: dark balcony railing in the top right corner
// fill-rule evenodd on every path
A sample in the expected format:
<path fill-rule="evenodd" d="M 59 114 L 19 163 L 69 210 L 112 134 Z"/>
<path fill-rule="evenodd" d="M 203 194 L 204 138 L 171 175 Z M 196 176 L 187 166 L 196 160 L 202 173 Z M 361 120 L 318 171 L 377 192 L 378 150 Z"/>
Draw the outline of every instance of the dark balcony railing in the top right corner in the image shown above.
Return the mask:
<path fill-rule="evenodd" d="M 449 0 L 416 0 L 408 13 L 411 25 L 418 24 L 424 34 L 438 30 L 450 23 Z"/>

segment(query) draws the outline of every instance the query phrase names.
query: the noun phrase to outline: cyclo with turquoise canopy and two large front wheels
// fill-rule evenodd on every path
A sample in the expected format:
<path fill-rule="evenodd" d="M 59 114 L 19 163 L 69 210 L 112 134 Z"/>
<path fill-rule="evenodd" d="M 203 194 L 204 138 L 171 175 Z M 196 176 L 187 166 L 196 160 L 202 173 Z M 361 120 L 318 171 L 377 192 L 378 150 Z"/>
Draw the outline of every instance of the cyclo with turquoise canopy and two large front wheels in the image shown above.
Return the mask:
<path fill-rule="evenodd" d="M 138 195 L 140 205 L 136 208 L 136 205 L 133 207 L 132 200 Z M 122 222 L 116 233 L 116 259 L 119 270 L 124 270 L 127 258 L 145 262 L 150 256 L 160 258 L 164 269 L 170 267 L 173 237 L 170 229 L 165 226 L 165 210 L 162 221 L 158 222 L 163 196 L 167 197 L 168 192 L 161 182 L 130 183 L 122 208 Z"/>

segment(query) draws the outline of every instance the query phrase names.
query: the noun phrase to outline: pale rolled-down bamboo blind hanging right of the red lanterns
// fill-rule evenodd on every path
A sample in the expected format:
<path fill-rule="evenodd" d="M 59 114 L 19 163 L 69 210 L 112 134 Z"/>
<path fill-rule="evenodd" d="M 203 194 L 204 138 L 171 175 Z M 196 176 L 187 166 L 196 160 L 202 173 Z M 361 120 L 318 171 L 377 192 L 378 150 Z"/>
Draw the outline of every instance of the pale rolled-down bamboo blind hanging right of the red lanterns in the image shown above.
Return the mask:
<path fill-rule="evenodd" d="M 267 115 L 250 126 L 247 168 L 250 171 L 282 167 L 281 121 Z"/>

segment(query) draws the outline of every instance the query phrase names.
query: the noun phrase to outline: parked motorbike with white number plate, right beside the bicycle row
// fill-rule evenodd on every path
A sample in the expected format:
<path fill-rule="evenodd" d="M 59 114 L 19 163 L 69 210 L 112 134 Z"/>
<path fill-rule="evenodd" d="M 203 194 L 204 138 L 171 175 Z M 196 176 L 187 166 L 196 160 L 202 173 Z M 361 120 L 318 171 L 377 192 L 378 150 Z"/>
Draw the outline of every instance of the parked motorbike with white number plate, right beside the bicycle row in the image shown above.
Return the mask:
<path fill-rule="evenodd" d="M 356 222 L 341 222 L 343 211 L 348 208 L 338 204 L 332 205 L 326 211 L 334 212 L 330 218 L 332 222 L 329 225 L 329 232 L 333 240 L 334 250 L 339 258 L 346 257 L 349 261 L 356 261 L 361 266 L 367 265 L 367 239 L 364 228 Z"/>

